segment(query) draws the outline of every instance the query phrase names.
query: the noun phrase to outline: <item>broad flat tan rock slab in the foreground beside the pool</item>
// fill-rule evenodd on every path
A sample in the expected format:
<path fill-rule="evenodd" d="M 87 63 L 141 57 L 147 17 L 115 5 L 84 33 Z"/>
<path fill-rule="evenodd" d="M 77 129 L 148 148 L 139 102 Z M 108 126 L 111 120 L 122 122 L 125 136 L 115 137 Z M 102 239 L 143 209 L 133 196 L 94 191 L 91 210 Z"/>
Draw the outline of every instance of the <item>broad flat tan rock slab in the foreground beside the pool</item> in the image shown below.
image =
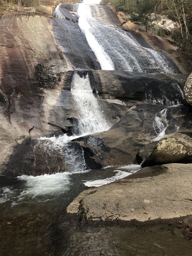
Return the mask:
<path fill-rule="evenodd" d="M 146 167 L 114 183 L 81 192 L 67 208 L 87 220 L 179 218 L 192 214 L 192 164 Z"/>

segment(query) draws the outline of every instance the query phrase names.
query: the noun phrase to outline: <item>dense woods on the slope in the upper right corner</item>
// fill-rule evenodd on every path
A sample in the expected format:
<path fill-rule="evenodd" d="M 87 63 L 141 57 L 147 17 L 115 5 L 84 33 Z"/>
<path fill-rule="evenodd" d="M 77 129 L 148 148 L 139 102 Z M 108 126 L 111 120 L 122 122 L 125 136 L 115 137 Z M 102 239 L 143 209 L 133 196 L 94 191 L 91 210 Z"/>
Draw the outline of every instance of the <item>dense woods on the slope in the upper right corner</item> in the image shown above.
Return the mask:
<path fill-rule="evenodd" d="M 102 4 L 109 4 L 109 1 L 102 0 Z M 192 53 L 191 0 L 111 0 L 110 5 L 117 11 L 129 13 L 130 21 L 145 26 L 145 31 L 150 30 L 151 33 L 154 33 L 157 15 L 167 15 L 173 22 L 177 22 L 179 27 L 171 33 L 171 38 L 179 49 Z"/>

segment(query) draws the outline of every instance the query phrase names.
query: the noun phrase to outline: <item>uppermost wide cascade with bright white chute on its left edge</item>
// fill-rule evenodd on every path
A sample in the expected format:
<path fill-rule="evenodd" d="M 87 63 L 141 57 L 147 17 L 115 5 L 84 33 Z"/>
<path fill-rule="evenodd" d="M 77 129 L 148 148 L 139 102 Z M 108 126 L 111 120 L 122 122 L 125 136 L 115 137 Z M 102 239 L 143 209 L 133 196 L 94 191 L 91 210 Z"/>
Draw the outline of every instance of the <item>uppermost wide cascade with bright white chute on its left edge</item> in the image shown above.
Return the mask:
<path fill-rule="evenodd" d="M 124 30 L 92 15 L 92 6 L 79 4 L 79 27 L 105 70 L 125 70 L 146 73 L 174 73 L 171 63 L 162 53 L 142 47 Z"/>

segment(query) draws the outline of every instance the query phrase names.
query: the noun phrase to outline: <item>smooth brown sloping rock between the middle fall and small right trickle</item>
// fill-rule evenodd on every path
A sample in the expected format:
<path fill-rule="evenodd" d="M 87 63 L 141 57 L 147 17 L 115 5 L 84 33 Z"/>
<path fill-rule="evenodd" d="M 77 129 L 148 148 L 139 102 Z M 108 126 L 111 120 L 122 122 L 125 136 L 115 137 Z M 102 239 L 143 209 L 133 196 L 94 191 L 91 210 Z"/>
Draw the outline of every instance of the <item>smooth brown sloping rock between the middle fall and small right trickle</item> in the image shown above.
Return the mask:
<path fill-rule="evenodd" d="M 156 138 L 153 121 L 161 110 L 162 106 L 158 105 L 133 106 L 108 131 L 75 141 L 90 151 L 91 157 L 102 166 L 133 164 L 138 151 Z M 176 126 L 180 127 L 179 132 L 190 134 L 190 119 L 190 107 L 170 107 L 166 134 L 175 132 Z"/>

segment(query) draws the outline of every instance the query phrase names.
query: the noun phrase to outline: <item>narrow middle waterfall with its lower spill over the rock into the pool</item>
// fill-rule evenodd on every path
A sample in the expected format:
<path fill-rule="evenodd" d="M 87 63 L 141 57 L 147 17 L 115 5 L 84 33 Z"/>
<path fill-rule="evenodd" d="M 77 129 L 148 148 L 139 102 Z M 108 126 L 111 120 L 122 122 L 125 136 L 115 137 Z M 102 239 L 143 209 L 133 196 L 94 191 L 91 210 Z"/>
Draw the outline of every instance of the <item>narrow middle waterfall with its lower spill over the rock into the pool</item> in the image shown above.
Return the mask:
<path fill-rule="evenodd" d="M 70 172 L 85 170 L 86 164 L 83 149 L 78 143 L 70 143 L 70 141 L 87 134 L 102 132 L 110 128 L 100 108 L 98 98 L 93 93 L 88 74 L 80 76 L 78 71 L 74 72 L 71 83 L 71 95 L 78 113 L 76 116 L 78 119 L 77 133 L 73 134 L 73 136 L 63 134 L 59 137 L 41 137 L 39 139 L 39 141 L 44 141 L 41 143 L 41 148 L 44 148 L 44 152 L 46 152 L 44 158 L 48 169 L 50 169 L 50 162 L 53 155 L 55 155 L 55 151 L 57 151 L 58 156 L 56 156 L 57 159 L 54 160 L 53 164 L 58 164 L 58 162 L 65 163 L 62 164 L 62 166 L 58 164 L 58 166 L 55 167 L 55 171 L 60 171 L 62 167 L 65 168 L 65 171 Z M 36 147 L 34 149 L 36 150 Z M 57 161 L 58 159 L 60 159 L 60 161 Z M 61 161 L 61 159 L 63 161 Z"/>

